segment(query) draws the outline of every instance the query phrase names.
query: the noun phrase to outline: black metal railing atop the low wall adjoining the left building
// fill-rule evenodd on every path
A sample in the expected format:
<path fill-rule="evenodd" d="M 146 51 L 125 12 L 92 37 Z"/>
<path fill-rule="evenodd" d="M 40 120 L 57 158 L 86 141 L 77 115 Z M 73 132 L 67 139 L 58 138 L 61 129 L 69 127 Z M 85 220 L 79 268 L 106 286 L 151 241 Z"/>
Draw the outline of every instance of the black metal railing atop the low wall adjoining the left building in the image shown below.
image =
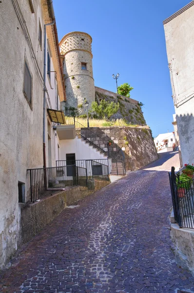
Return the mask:
<path fill-rule="evenodd" d="M 87 186 L 87 168 L 60 166 L 28 169 L 30 173 L 31 202 L 72 186 Z"/>

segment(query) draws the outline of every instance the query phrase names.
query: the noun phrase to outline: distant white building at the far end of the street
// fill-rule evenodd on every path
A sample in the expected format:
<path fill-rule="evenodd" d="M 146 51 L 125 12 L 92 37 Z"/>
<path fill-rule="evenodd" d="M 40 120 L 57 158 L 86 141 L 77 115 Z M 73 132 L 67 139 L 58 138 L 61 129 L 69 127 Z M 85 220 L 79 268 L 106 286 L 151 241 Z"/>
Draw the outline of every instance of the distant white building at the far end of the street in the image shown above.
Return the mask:
<path fill-rule="evenodd" d="M 154 139 L 157 151 L 170 151 L 175 148 L 175 134 L 174 132 L 162 133 Z"/>

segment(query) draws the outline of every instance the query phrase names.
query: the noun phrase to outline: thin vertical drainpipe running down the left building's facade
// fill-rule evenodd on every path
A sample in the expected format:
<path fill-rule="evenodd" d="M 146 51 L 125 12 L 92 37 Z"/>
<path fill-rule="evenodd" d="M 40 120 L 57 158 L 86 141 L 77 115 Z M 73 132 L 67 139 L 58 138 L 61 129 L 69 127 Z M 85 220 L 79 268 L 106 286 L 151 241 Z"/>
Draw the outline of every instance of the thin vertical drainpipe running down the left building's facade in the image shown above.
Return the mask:
<path fill-rule="evenodd" d="M 55 20 L 51 23 L 44 24 L 44 97 L 43 97 L 43 168 L 46 168 L 46 131 L 45 131 L 45 121 L 46 121 L 46 26 L 53 25 Z"/>

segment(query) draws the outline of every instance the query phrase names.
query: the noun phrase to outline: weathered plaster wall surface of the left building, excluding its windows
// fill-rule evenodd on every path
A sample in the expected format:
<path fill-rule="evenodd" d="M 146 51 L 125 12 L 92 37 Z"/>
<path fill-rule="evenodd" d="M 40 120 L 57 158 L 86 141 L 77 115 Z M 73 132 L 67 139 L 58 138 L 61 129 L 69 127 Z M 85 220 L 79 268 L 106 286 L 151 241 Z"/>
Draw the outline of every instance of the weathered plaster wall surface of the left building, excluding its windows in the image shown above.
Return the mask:
<path fill-rule="evenodd" d="M 18 182 L 25 184 L 26 197 L 30 188 L 27 169 L 43 166 L 44 22 L 40 0 L 33 1 L 35 13 L 32 13 L 29 1 L 18 0 L 18 3 L 35 56 L 32 57 L 32 48 L 23 33 L 12 0 L 2 1 L 0 3 L 0 268 L 18 248 L 21 207 Z M 39 21 L 42 29 L 42 48 L 38 38 Z M 31 105 L 23 94 L 25 60 L 33 80 Z M 53 90 L 51 87 L 49 89 L 46 82 L 53 106 L 55 105 L 54 81 L 52 81 Z M 53 130 L 51 133 L 52 163 L 55 166 L 56 140 Z"/>

